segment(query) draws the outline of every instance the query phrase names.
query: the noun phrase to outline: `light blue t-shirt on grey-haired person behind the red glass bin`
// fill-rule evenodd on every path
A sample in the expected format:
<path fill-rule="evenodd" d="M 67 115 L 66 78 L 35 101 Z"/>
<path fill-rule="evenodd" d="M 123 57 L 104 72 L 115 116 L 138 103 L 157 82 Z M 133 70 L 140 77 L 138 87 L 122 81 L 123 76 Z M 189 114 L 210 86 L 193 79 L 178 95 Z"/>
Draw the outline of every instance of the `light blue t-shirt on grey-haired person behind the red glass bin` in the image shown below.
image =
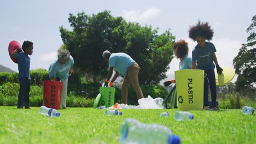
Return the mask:
<path fill-rule="evenodd" d="M 65 80 L 68 78 L 69 70 L 73 65 L 74 59 L 72 56 L 70 56 L 68 61 L 63 65 L 56 59 L 49 67 L 49 77 L 60 77 L 61 80 Z"/>

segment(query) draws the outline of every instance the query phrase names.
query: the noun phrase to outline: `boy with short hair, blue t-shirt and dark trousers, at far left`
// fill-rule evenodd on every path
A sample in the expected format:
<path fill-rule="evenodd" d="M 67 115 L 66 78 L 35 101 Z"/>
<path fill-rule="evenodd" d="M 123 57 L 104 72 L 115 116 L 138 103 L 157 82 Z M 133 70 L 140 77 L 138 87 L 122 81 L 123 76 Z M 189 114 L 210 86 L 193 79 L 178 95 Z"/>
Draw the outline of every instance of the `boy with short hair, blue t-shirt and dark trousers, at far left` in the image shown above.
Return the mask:
<path fill-rule="evenodd" d="M 24 52 L 22 52 L 22 50 Z M 19 82 L 20 91 L 18 97 L 18 109 L 23 109 L 23 104 L 25 104 L 25 109 L 30 108 L 30 57 L 33 53 L 33 43 L 31 41 L 24 41 L 21 47 L 11 53 L 12 58 L 18 60 L 19 69 Z"/>

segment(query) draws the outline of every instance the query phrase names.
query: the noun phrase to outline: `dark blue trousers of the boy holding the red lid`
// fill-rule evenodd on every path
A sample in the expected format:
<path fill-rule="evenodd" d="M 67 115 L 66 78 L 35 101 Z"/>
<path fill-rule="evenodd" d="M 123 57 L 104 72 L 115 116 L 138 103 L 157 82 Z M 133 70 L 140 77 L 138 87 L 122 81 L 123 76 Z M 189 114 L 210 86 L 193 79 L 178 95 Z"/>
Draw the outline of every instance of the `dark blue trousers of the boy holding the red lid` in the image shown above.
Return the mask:
<path fill-rule="evenodd" d="M 19 78 L 20 81 L 20 92 L 18 97 L 18 108 L 23 108 L 25 106 L 30 106 L 30 79 L 27 77 Z"/>

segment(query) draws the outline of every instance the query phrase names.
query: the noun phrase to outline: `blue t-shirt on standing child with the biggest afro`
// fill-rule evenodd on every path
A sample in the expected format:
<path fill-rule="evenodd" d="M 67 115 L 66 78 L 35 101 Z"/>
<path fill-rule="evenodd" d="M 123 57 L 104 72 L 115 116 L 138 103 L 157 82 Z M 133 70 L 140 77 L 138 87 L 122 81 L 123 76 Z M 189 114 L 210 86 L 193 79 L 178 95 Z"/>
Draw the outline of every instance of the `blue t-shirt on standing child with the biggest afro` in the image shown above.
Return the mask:
<path fill-rule="evenodd" d="M 199 45 L 196 45 L 192 51 L 192 61 L 196 62 L 196 69 L 214 69 L 215 65 L 212 59 L 212 53 L 216 52 L 215 46 L 206 42 L 205 48 L 200 48 Z"/>

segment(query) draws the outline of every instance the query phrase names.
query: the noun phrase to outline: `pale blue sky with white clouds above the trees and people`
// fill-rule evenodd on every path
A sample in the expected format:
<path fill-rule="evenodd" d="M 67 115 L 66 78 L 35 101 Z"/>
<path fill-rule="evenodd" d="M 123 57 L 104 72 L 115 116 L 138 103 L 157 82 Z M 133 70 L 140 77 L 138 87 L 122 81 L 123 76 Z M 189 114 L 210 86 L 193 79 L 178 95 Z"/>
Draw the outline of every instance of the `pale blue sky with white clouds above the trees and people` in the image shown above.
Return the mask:
<path fill-rule="evenodd" d="M 34 43 L 31 69 L 48 69 L 56 58 L 56 50 L 62 45 L 59 27 L 70 28 L 68 14 L 85 11 L 97 14 L 110 10 L 113 16 L 123 16 L 127 21 L 159 28 L 159 33 L 171 29 L 176 40 L 185 39 L 191 50 L 196 45 L 188 38 L 189 26 L 197 20 L 209 22 L 214 30 L 212 43 L 216 46 L 220 66 L 232 67 L 232 59 L 241 44 L 246 43 L 246 29 L 256 15 L 256 1 L 1 1 L 0 5 L 0 64 L 18 71 L 8 54 L 11 40 Z M 174 58 L 167 71 L 173 78 L 178 70 L 178 59 Z M 233 82 L 235 79 L 233 80 Z"/>

